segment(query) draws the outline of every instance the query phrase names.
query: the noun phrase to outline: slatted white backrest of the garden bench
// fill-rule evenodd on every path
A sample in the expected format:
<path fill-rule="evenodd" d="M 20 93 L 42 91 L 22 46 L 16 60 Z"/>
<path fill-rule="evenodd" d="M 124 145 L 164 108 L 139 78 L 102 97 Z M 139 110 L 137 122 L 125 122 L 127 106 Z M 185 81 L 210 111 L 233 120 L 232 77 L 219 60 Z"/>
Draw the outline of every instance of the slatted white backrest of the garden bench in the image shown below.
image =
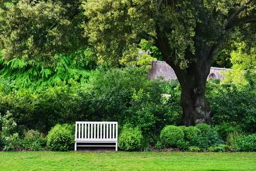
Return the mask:
<path fill-rule="evenodd" d="M 117 122 L 76 122 L 75 141 L 117 141 Z"/>

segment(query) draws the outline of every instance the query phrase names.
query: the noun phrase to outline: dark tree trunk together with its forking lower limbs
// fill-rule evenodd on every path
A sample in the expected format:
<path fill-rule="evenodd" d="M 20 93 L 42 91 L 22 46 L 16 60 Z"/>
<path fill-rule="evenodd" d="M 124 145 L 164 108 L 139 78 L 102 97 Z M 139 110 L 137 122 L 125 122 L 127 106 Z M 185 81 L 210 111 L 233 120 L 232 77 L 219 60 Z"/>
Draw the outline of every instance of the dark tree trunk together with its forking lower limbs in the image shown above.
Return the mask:
<path fill-rule="evenodd" d="M 207 46 L 201 42 L 200 36 L 195 36 L 196 52 L 187 49 L 186 59 L 194 59 L 188 63 L 188 67 L 181 69 L 175 63 L 175 51 L 170 49 L 168 38 L 161 29 L 157 27 L 156 45 L 161 51 L 164 61 L 171 66 L 181 85 L 180 104 L 183 110 L 182 125 L 196 125 L 199 123 L 210 123 L 210 106 L 205 98 L 205 86 L 210 65 L 218 52 L 219 46 Z M 200 33 L 200 32 L 199 32 Z"/>

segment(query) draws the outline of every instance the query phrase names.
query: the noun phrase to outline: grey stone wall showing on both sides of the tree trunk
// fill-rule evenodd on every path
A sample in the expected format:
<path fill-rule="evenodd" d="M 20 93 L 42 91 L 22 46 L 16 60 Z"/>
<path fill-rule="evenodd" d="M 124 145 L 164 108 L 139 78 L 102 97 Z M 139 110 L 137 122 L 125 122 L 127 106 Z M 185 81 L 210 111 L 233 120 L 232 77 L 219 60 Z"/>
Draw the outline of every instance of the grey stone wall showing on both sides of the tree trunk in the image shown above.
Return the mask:
<path fill-rule="evenodd" d="M 228 70 L 230 70 L 230 69 L 211 67 L 210 73 L 209 73 L 207 79 L 210 79 L 210 78 L 224 79 L 224 76 L 221 74 L 221 72 L 222 71 L 225 72 Z M 150 73 L 148 74 L 148 78 L 157 79 L 158 77 L 161 77 L 164 80 L 177 78 L 172 67 L 170 67 L 164 61 L 157 60 L 152 63 L 152 68 L 150 70 Z"/>

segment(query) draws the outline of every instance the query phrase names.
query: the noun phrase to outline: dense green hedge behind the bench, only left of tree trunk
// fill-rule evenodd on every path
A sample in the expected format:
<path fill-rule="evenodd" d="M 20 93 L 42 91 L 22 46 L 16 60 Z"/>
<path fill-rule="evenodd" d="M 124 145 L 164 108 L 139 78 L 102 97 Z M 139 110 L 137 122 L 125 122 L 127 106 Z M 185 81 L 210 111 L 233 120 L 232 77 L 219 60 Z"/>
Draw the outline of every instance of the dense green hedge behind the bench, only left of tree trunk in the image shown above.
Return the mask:
<path fill-rule="evenodd" d="M 179 91 L 166 92 L 176 83 L 150 81 L 141 69 L 95 71 L 87 83 L 70 81 L 41 92 L 11 87 L 0 81 L 0 113 L 9 110 L 23 133 L 36 129 L 47 133 L 57 123 L 118 121 L 140 126 L 143 134 L 159 133 L 181 118 Z M 169 89 L 170 88 L 170 89 Z M 171 97 L 161 94 L 170 93 Z"/>

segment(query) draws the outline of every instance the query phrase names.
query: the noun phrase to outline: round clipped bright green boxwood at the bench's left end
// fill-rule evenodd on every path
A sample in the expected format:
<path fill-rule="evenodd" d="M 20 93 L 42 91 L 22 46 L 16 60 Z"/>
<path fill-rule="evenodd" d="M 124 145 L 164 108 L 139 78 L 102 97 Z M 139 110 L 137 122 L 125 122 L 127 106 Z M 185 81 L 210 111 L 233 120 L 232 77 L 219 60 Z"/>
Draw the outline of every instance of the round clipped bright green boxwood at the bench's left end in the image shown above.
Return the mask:
<path fill-rule="evenodd" d="M 74 125 L 56 124 L 46 137 L 47 147 L 52 151 L 69 151 L 74 147 L 74 134 Z"/>

